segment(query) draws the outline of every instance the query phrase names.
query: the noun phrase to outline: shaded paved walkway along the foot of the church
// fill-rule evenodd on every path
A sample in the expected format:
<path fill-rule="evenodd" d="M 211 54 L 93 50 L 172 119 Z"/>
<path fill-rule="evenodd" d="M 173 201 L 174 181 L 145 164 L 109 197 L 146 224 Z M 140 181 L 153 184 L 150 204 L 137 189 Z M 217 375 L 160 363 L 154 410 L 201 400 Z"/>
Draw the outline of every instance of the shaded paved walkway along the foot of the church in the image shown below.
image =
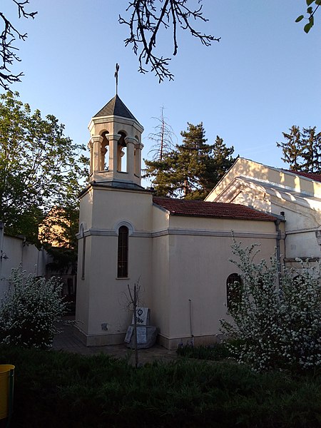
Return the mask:
<path fill-rule="evenodd" d="M 67 352 L 75 352 L 81 355 L 103 354 L 111 355 L 115 358 L 124 358 L 131 364 L 135 363 L 135 352 L 123 345 L 106 345 L 106 346 L 91 346 L 86 347 L 81 340 L 73 335 L 72 317 L 66 317 L 58 323 L 58 327 L 62 332 L 54 337 L 54 350 L 63 350 Z M 68 324 L 69 322 L 69 324 Z M 166 350 L 161 345 L 154 345 L 148 350 L 138 350 L 138 360 L 140 365 L 146 362 L 155 360 L 173 361 L 178 358 L 175 351 Z"/>

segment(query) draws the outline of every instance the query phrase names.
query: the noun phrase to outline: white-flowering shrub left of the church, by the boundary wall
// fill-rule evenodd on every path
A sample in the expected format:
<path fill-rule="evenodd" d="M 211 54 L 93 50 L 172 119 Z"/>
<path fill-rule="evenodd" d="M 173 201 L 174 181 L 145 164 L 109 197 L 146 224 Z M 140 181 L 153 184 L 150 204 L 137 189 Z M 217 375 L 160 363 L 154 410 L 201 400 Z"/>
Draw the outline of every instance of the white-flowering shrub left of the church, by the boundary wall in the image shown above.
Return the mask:
<path fill-rule="evenodd" d="M 57 278 L 46 281 L 14 269 L 0 307 L 0 344 L 51 347 L 58 332 L 55 323 L 66 307 L 61 286 Z"/>

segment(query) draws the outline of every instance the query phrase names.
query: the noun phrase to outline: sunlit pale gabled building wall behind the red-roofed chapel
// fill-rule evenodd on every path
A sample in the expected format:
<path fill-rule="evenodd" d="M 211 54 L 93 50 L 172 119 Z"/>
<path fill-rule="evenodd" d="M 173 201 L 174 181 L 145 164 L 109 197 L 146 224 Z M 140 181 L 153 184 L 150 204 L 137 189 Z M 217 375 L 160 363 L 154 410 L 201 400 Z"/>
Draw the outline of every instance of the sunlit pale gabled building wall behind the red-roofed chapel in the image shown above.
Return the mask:
<path fill-rule="evenodd" d="M 288 171 L 239 158 L 206 198 L 241 203 L 285 219 L 287 265 L 296 258 L 320 258 L 321 183 Z"/>

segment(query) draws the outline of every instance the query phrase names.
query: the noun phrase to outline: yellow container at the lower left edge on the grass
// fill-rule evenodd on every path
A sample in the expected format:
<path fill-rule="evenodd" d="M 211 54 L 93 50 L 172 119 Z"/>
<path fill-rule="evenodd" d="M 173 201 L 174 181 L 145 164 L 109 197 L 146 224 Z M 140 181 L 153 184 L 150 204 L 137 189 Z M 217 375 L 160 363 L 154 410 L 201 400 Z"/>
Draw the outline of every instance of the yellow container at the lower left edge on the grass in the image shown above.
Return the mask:
<path fill-rule="evenodd" d="M 11 371 L 12 370 L 12 371 Z M 14 396 L 14 366 L 0 365 L 0 419 L 10 416 Z"/>

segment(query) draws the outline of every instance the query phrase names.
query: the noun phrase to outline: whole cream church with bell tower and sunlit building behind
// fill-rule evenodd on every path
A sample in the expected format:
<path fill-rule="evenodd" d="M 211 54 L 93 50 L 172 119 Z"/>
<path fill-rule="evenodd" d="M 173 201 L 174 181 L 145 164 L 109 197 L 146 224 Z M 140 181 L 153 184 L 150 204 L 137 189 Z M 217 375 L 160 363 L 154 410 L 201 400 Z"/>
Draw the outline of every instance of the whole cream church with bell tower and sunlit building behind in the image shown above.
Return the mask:
<path fill-rule="evenodd" d="M 141 185 L 143 126 L 118 95 L 89 124 L 90 183 L 81 193 L 76 333 L 88 346 L 123 343 L 139 283 L 158 342 L 207 344 L 228 317 L 233 235 L 277 253 L 318 258 L 321 176 L 239 158 L 205 201 L 159 198 Z M 288 225 L 288 226 L 287 226 Z"/>

